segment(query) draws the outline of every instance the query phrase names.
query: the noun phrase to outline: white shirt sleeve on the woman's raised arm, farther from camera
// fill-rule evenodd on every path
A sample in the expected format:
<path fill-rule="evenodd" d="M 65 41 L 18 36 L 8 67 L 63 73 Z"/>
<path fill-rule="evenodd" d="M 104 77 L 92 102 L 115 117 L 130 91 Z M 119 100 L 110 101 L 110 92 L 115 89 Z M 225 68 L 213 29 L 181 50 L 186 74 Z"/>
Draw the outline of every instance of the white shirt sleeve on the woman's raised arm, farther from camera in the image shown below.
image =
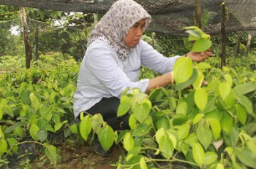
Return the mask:
<path fill-rule="evenodd" d="M 176 55 L 174 57 L 166 58 L 164 55 L 157 52 L 157 50 L 154 50 L 150 44 L 141 40 L 141 64 L 160 74 L 173 71 L 173 65 L 176 62 L 176 59 L 180 57 L 181 56 Z"/>

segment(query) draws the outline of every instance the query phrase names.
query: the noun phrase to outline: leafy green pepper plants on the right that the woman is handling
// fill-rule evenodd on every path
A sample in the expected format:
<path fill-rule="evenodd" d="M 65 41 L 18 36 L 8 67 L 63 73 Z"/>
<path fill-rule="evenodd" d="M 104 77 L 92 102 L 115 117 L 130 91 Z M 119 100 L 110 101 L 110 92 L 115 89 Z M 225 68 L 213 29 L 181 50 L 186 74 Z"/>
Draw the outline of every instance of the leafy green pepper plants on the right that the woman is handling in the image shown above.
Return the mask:
<path fill-rule="evenodd" d="M 202 52 L 211 47 L 209 36 L 192 28 L 192 49 Z M 173 73 L 176 84 L 149 95 L 138 89 L 124 91 L 118 117 L 129 114 L 130 130 L 114 132 L 96 114 L 83 117 L 80 134 L 87 140 L 93 130 L 105 150 L 113 143 L 122 144 L 127 153 L 116 168 L 151 168 L 157 162 L 255 168 L 256 72 L 214 68 L 183 56 Z"/>

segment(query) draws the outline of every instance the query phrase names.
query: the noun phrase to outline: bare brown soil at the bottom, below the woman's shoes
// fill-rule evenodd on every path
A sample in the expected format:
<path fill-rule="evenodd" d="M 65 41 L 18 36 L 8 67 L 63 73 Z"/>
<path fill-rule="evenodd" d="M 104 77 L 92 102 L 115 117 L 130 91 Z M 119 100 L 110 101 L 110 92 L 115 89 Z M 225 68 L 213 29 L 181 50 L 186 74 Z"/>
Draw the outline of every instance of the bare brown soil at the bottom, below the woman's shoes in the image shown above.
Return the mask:
<path fill-rule="evenodd" d="M 37 157 L 31 163 L 32 168 L 62 169 L 62 168 L 88 168 L 88 169 L 113 169 L 112 165 L 118 162 L 119 156 L 124 150 L 113 147 L 113 152 L 108 157 L 103 157 L 94 152 L 93 146 L 86 142 L 65 142 L 56 146 L 59 160 L 56 165 L 50 164 L 47 157 Z M 42 153 L 42 156 L 45 154 Z"/>

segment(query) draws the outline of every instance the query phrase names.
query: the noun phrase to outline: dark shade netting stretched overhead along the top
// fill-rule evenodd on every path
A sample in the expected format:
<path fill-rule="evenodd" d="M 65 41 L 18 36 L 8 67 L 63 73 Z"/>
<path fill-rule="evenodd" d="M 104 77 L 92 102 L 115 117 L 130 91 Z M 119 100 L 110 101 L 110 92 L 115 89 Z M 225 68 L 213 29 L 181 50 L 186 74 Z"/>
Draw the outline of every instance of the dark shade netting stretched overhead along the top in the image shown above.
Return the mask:
<path fill-rule="evenodd" d="M 0 0 L 0 4 L 17 7 L 53 9 L 64 12 L 101 13 L 115 0 Z M 152 15 L 151 31 L 182 35 L 182 28 L 195 25 L 195 0 L 136 0 Z M 201 0 L 203 30 L 220 34 L 221 4 L 227 9 L 226 32 L 249 31 L 256 35 L 255 0 Z M 206 23 L 206 24 L 204 24 Z"/>

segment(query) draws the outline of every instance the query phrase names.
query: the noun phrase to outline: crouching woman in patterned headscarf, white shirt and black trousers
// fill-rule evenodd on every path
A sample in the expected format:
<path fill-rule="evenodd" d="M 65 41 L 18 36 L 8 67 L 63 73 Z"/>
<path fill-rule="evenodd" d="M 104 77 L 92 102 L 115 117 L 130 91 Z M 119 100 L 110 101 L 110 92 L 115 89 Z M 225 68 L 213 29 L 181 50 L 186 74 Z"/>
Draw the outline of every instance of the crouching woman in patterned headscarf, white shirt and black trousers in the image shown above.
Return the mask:
<path fill-rule="evenodd" d="M 138 87 L 142 93 L 149 93 L 173 82 L 171 71 L 179 56 L 165 58 L 140 39 L 149 23 L 151 16 L 140 4 L 118 0 L 95 25 L 78 74 L 78 90 L 74 95 L 76 119 L 81 111 L 100 113 L 113 130 L 129 129 L 129 114 L 117 117 L 122 91 Z M 211 52 L 187 55 L 201 61 Z M 139 80 L 141 65 L 162 75 Z"/>

